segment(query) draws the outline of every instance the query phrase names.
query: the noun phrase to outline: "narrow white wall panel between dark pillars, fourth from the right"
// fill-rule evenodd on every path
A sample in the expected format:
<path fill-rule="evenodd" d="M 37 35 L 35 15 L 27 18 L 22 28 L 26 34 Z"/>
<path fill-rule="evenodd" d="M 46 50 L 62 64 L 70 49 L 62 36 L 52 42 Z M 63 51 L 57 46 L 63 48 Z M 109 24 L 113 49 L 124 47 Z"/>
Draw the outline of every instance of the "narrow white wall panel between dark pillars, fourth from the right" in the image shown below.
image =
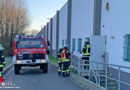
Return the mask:
<path fill-rule="evenodd" d="M 56 15 L 53 17 L 52 23 L 52 49 L 56 50 Z"/>

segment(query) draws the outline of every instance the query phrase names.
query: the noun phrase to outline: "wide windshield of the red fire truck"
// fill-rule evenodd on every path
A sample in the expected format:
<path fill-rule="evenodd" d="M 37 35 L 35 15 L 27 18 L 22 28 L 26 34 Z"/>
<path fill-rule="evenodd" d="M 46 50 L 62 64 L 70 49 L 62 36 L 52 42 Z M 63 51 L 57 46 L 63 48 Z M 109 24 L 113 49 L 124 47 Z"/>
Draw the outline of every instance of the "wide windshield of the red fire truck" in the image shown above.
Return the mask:
<path fill-rule="evenodd" d="M 17 41 L 17 48 L 43 48 L 42 39 L 20 39 Z"/>

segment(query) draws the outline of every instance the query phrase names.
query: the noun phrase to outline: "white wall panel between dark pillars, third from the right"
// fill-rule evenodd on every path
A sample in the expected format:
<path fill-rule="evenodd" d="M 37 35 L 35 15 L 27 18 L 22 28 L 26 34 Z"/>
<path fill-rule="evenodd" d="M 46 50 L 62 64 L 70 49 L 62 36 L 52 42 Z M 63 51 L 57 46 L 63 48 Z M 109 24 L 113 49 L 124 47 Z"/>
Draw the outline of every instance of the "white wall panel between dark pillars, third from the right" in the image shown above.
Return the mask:
<path fill-rule="evenodd" d="M 59 11 L 59 46 L 62 46 L 62 40 L 67 40 L 67 13 L 68 3 Z"/>

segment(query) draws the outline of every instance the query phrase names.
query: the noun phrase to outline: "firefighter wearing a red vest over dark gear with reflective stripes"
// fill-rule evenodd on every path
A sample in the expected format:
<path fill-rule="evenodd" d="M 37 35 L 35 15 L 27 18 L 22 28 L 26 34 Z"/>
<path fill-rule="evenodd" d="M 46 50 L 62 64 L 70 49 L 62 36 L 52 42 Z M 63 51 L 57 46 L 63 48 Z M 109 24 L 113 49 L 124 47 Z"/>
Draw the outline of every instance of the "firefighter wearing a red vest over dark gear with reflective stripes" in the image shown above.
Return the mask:
<path fill-rule="evenodd" d="M 70 51 L 68 50 L 67 46 L 64 47 L 62 51 L 62 76 L 69 76 L 70 74 Z"/>

